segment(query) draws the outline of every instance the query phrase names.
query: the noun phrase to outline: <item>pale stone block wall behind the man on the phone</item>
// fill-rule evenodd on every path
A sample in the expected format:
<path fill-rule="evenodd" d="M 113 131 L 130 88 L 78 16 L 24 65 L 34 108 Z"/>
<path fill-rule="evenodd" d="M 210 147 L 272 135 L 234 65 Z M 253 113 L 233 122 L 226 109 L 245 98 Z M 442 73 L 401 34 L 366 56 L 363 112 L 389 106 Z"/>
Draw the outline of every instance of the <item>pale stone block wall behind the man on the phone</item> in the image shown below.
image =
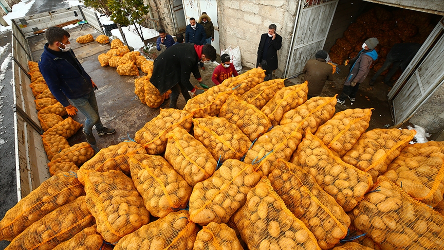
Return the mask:
<path fill-rule="evenodd" d="M 217 1 L 217 8 L 220 48 L 239 46 L 243 66 L 256 66 L 261 34 L 268 32 L 270 24 L 278 26 L 276 33 L 282 36 L 282 48 L 278 51 L 279 67 L 275 75 L 281 77 L 287 62 L 298 1 L 224 0 Z"/>

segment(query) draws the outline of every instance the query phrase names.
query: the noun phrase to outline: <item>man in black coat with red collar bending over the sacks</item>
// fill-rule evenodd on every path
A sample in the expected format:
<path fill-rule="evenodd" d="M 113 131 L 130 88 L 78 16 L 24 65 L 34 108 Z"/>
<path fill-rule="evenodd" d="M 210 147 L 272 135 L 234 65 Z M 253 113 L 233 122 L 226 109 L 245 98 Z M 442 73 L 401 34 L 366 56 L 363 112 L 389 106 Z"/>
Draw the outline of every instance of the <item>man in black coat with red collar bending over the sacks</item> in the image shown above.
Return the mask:
<path fill-rule="evenodd" d="M 216 49 L 209 44 L 176 44 L 154 60 L 150 82 L 157 87 L 160 94 L 171 89 L 170 108 L 177 109 L 179 93 L 182 93 L 187 102 L 191 99 L 188 92 L 193 94 L 196 92 L 196 88 L 190 82 L 191 73 L 200 84 L 203 84 L 198 68 L 199 62 L 215 59 Z"/>

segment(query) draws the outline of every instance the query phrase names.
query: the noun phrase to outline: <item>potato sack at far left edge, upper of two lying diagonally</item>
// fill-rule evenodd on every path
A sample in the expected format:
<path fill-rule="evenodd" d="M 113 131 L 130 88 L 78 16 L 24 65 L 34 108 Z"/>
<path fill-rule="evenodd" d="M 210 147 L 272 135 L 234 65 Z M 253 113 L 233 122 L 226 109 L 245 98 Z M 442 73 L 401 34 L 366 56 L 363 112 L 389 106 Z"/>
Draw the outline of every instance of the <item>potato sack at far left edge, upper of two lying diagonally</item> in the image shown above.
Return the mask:
<path fill-rule="evenodd" d="M 32 223 L 81 195 L 85 192 L 76 174 L 50 177 L 6 212 L 0 221 L 0 240 L 12 241 Z"/>

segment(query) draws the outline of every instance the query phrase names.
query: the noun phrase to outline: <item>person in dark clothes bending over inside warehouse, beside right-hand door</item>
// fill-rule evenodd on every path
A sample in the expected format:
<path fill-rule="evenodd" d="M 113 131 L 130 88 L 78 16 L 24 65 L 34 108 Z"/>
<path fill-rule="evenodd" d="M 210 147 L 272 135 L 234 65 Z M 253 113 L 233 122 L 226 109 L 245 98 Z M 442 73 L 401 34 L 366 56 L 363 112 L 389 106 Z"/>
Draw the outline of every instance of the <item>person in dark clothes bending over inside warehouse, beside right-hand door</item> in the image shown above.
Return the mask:
<path fill-rule="evenodd" d="M 392 49 L 385 58 L 384 64 L 382 64 L 382 67 L 378 70 L 378 72 L 376 72 L 368 84 L 373 86 L 376 78 L 378 78 L 378 76 L 381 75 L 384 70 L 393 64 L 392 68 L 389 70 L 389 73 L 387 73 L 384 80 L 382 80 L 383 83 L 393 86 L 393 84 L 390 83 L 390 79 L 396 73 L 396 70 L 401 67 L 401 70 L 404 71 L 409 65 L 410 61 L 412 61 L 413 57 L 415 57 L 419 48 L 421 48 L 421 44 L 419 43 L 397 43 L 393 45 Z"/>

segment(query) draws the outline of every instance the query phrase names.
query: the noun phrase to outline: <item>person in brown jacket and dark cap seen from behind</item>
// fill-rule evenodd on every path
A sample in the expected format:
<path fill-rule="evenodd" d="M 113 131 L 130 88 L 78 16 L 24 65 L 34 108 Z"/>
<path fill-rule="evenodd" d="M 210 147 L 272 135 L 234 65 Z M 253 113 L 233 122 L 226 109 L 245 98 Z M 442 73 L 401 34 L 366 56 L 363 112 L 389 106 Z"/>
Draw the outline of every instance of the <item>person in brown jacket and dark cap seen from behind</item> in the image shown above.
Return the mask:
<path fill-rule="evenodd" d="M 333 80 L 333 66 L 326 62 L 327 51 L 316 52 L 316 59 L 310 59 L 304 66 L 305 81 L 308 81 L 308 99 L 321 95 L 325 81 Z"/>

